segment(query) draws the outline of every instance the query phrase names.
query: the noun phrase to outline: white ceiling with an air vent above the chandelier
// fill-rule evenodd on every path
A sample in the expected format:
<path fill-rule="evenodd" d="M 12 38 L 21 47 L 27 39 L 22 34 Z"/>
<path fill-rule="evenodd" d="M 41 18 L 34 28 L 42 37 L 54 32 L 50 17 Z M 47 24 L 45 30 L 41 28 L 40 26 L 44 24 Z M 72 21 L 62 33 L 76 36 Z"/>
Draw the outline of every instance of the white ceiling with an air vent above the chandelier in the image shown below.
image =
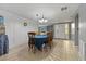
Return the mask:
<path fill-rule="evenodd" d="M 0 4 L 0 9 L 33 20 L 34 22 L 41 18 L 44 14 L 44 17 L 51 24 L 71 22 L 78 5 L 78 3 L 4 3 Z M 67 7 L 67 10 L 61 11 L 62 7 Z M 38 17 L 36 14 L 38 14 Z"/>

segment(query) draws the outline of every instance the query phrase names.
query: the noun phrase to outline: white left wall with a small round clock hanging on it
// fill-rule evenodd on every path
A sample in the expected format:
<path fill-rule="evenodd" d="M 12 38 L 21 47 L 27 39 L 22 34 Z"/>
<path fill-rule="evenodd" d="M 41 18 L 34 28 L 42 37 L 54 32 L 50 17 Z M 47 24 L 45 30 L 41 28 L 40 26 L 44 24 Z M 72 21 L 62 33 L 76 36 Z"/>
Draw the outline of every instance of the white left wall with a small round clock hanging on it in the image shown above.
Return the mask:
<path fill-rule="evenodd" d="M 5 34 L 9 36 L 9 48 L 27 43 L 27 31 L 37 31 L 37 24 L 30 20 L 2 10 L 0 10 L 0 15 L 4 16 Z M 28 26 L 23 26 L 24 21 L 28 22 Z"/>

